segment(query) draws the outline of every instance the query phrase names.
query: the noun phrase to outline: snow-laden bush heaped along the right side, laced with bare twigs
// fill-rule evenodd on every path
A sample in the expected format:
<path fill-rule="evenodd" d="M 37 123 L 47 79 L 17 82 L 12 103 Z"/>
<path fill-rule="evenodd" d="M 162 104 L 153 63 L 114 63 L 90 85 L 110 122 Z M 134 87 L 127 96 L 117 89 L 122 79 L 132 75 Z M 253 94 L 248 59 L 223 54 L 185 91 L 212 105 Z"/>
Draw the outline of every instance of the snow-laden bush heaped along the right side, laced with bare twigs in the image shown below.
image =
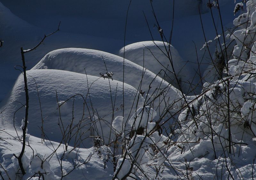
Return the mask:
<path fill-rule="evenodd" d="M 247 12 L 234 20 L 236 26 L 234 32 L 230 36 L 224 36 L 222 32 L 221 36 L 218 35 L 215 38 L 215 40 L 221 37 L 227 38 L 227 44 L 219 46 L 219 53 L 225 60 L 221 71 L 215 69 L 221 72 L 219 80 L 215 80 L 213 84 L 205 83 L 201 94 L 190 97 L 188 106 L 180 109 L 177 121 L 179 126 L 174 126 L 174 131 L 168 134 L 167 138 L 160 138 L 160 142 L 156 141 L 157 133 L 154 132 L 153 137 L 147 137 L 151 139 L 149 147 L 144 145 L 147 138 L 143 139 L 141 135 L 132 137 L 130 142 L 134 142 L 136 146 L 139 144 L 133 152 L 140 151 L 141 153 L 138 153 L 140 156 L 136 154 L 140 157 L 138 159 L 148 161 L 148 169 L 144 169 L 144 172 L 149 173 L 152 170 L 149 168 L 151 166 L 154 167 L 155 174 L 161 171 L 163 173 L 165 168 L 169 167 L 168 172 L 172 172 L 169 177 L 172 178 L 255 177 L 252 173 L 255 171 L 253 149 L 255 149 L 256 136 L 255 5 L 256 1 L 247 1 Z M 242 3 L 236 5 L 236 12 L 238 6 L 242 7 Z M 228 54 L 229 52 L 231 54 Z M 161 125 L 164 126 L 164 124 Z M 135 125 L 136 127 L 139 126 Z M 138 139 L 141 140 L 138 141 Z M 127 146 L 127 149 L 130 146 Z M 144 152 L 142 147 L 145 147 Z M 146 151 L 151 151 L 149 154 L 153 158 L 147 156 Z M 126 155 L 127 159 L 123 159 L 124 167 L 128 167 L 129 161 L 133 166 L 138 163 L 132 161 L 132 155 L 129 152 Z M 207 168 L 209 161 L 211 165 Z M 178 162 L 184 163 L 180 165 Z M 118 162 L 119 164 L 121 163 Z M 160 165 L 163 166 L 160 167 Z M 142 175 L 143 168 L 140 167 L 140 170 L 136 170 L 137 166 L 134 166 L 129 172 L 127 169 L 123 172 L 147 179 L 147 176 Z M 245 167 L 248 167 L 247 172 L 244 171 Z M 127 177 L 127 174 L 122 177 Z"/>

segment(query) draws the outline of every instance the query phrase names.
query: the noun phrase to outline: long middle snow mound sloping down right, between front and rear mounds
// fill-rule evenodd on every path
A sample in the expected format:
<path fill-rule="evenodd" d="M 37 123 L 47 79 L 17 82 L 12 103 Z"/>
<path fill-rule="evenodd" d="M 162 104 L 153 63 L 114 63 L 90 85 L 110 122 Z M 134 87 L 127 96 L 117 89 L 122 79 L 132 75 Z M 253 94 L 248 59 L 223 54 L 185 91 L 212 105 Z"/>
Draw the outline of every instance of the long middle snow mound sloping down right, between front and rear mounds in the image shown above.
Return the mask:
<path fill-rule="evenodd" d="M 165 97 L 169 98 L 170 102 L 181 99 L 180 91 L 156 74 L 146 69 L 143 70 L 140 65 L 127 59 L 103 51 L 80 48 L 57 49 L 45 55 L 32 69 L 59 69 L 83 74 L 86 71 L 87 74 L 98 77 L 100 77 L 100 73 L 105 74 L 108 71 L 113 72 L 112 78 L 114 80 L 122 82 L 123 68 L 124 83 L 135 89 L 146 94 L 156 95 L 160 93 L 158 88 L 161 87 L 164 88 Z M 177 103 L 180 105 L 181 102 L 177 101 Z M 156 104 L 159 105 L 158 102 Z"/>

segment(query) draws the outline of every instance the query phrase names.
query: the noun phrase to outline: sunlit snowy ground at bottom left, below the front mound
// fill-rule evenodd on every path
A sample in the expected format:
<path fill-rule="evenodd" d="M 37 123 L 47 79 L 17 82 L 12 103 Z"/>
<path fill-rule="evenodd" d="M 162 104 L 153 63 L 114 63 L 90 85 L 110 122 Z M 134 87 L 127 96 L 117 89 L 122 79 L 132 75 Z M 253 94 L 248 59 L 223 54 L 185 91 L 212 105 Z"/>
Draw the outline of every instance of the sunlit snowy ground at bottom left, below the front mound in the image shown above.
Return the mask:
<path fill-rule="evenodd" d="M 7 131 L 10 133 L 10 135 L 15 136 L 15 134 L 12 131 Z M 19 154 L 20 153 L 20 143 L 17 143 L 17 140 L 15 139 L 8 139 L 8 142 L 12 144 L 12 152 L 10 152 L 8 149 L 4 148 L 1 151 L 1 155 L 3 158 L 3 161 L 1 161 L 2 165 L 7 169 L 9 172 L 9 176 L 11 179 L 16 178 L 15 172 L 17 172 L 18 169 L 18 161 L 17 159 L 13 156 L 14 154 Z M 34 158 L 36 157 L 36 154 L 44 154 L 44 158 L 49 161 L 50 166 L 48 163 L 45 163 L 46 167 L 49 168 L 51 167 L 51 170 L 55 174 L 54 179 L 60 179 L 61 177 L 61 169 L 60 169 L 60 164 L 59 160 L 62 157 L 63 154 L 66 154 L 67 152 L 63 153 L 63 147 L 59 146 L 59 143 L 56 142 L 49 142 L 46 141 L 43 144 L 41 144 L 41 139 L 36 138 L 36 137 L 31 137 L 30 139 L 30 146 L 36 149 L 37 153 L 34 152 Z M 57 149 L 57 154 L 53 154 L 54 148 Z M 69 146 L 68 150 L 72 150 L 73 147 Z M 76 177 L 78 179 L 83 179 L 84 177 L 89 178 L 89 179 L 105 179 L 106 177 L 109 176 L 109 172 L 113 172 L 113 168 L 111 169 L 110 164 L 107 164 L 110 169 L 106 168 L 104 169 L 104 163 L 100 159 L 100 155 L 98 155 L 95 152 L 94 147 L 89 148 L 89 149 L 83 149 L 79 148 L 76 150 L 77 153 L 75 152 L 71 157 L 64 158 L 62 160 L 62 169 L 66 171 L 66 173 L 70 173 L 68 176 L 64 177 L 65 179 L 73 179 L 73 177 Z M 73 153 L 74 151 L 72 151 Z M 29 168 L 29 163 L 30 163 L 30 155 L 33 154 L 32 150 L 28 148 L 25 152 L 26 156 L 23 156 L 24 160 L 23 163 L 27 163 L 26 167 L 28 166 Z M 49 157 L 50 156 L 50 157 Z M 28 158 L 29 157 L 29 158 Z M 38 160 L 38 158 L 36 158 Z M 90 159 L 90 161 L 88 161 Z M 80 170 L 74 169 L 72 172 L 70 172 L 73 169 L 73 163 L 83 163 L 86 160 L 88 163 L 85 163 L 81 167 L 86 170 L 83 173 L 79 173 Z M 38 165 L 39 161 L 36 161 L 34 168 Z M 41 164 L 41 163 L 40 163 Z M 33 169 L 34 169 L 33 168 Z M 30 172 L 32 172 L 33 169 L 30 169 Z M 34 169 L 35 170 L 35 169 Z M 64 171 L 64 173 L 65 173 Z M 95 173 L 91 173 L 95 172 Z M 48 178 L 48 176 L 44 176 Z M 19 178 L 19 176 L 18 176 Z M 35 178 L 35 177 L 34 177 Z M 8 178 L 7 178 L 8 179 Z M 36 178 L 38 179 L 38 177 Z"/>

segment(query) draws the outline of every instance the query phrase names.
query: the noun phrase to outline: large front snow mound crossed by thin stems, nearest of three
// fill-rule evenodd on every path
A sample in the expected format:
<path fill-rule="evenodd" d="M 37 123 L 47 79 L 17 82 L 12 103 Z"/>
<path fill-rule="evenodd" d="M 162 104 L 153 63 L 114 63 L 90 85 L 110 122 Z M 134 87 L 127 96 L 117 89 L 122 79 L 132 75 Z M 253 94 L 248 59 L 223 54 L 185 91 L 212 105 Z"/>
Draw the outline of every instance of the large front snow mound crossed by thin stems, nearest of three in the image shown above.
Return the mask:
<path fill-rule="evenodd" d="M 82 130 L 85 132 L 84 137 L 94 133 L 94 135 L 102 135 L 103 137 L 101 138 L 108 141 L 109 133 L 114 133 L 114 130 L 110 131 L 112 112 L 114 111 L 114 117 L 123 115 L 123 84 L 121 82 L 116 80 L 110 80 L 109 82 L 108 79 L 60 70 L 30 70 L 27 71 L 27 74 L 29 90 L 28 134 L 41 137 L 40 129 L 43 118 L 44 133 L 51 140 L 60 142 L 62 139 L 61 124 L 63 123 L 65 129 L 74 117 L 73 126 L 82 121 L 81 124 L 84 126 Z M 42 117 L 36 85 L 41 102 Z M 58 102 L 61 104 L 61 117 L 59 115 L 56 92 Z M 84 99 L 80 94 L 83 95 Z M 74 99 L 68 100 L 74 95 L 76 95 Z M 128 118 L 131 109 L 132 112 L 136 110 L 137 95 L 136 89 L 124 84 L 124 117 Z M 134 99 L 135 104 L 133 104 Z M 61 101 L 66 101 L 66 103 Z M 85 104 L 83 104 L 84 101 Z M 141 96 L 138 101 L 138 106 L 143 106 L 144 99 Z M 20 75 L 12 88 L 10 97 L 1 104 L 1 112 L 6 108 L 1 114 L 1 118 L 4 119 L 1 121 L 2 127 L 12 128 L 14 116 L 15 127 L 19 130 L 21 121 L 25 116 L 25 107 L 22 105 L 24 102 L 26 102 L 24 79 Z M 18 110 L 19 108 L 21 109 Z M 15 111 L 17 112 L 15 113 Z M 93 115 L 99 117 L 99 119 L 95 119 L 96 122 L 92 121 Z M 86 142 L 87 144 L 85 143 L 84 146 L 93 146 L 91 138 L 87 138 Z"/>

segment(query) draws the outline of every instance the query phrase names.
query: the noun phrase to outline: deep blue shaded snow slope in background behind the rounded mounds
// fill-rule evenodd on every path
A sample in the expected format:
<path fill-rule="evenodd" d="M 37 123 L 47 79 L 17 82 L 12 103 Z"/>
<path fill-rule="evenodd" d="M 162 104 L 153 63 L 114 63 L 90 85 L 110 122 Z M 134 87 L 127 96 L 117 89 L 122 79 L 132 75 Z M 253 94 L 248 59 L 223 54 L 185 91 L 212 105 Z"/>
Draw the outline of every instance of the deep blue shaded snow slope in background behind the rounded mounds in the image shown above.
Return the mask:
<path fill-rule="evenodd" d="M 198 4 L 200 2 L 202 3 L 201 9 L 205 13 L 202 14 L 203 22 L 206 27 L 212 27 L 207 29 L 207 41 L 215 37 L 212 22 L 208 20 L 211 18 L 209 9 L 205 7 L 207 0 L 176 1 L 173 34 L 181 33 L 186 34 L 186 36 L 174 35 L 171 42 L 182 59 L 191 62 L 188 65 L 194 71 L 197 70 L 197 66 L 195 65 L 196 53 L 193 41 L 199 47 L 204 44 L 198 16 Z M 232 24 L 234 17 L 232 12 L 233 0 L 221 0 L 220 3 L 223 5 L 221 12 L 224 14 L 224 25 L 226 26 L 228 22 Z M 4 99 L 19 75 L 19 71 L 15 71 L 13 67 L 21 64 L 20 47 L 31 49 L 41 40 L 44 34 L 56 30 L 60 21 L 60 32 L 47 38 L 44 46 L 26 54 L 29 69 L 38 63 L 46 53 L 60 48 L 89 48 L 117 54 L 118 50 L 124 46 L 126 18 L 124 12 L 127 11 L 128 5 L 128 0 L 107 3 L 105 1 L 80 0 L 72 4 L 68 1 L 60 2 L 59 0 L 36 1 L 34 3 L 28 0 L 23 2 L 1 0 L 0 38 L 4 39 L 4 46 L 0 49 L 0 75 L 3 77 L 0 79 L 0 83 L 3 84 L 4 88 L 1 90 L 0 101 Z M 172 3 L 169 1 L 155 1 L 153 6 L 164 33 L 169 34 L 172 24 L 170 23 L 172 20 Z M 94 11 L 94 8 L 97 11 Z M 142 11 L 145 12 L 148 19 L 154 40 L 161 40 L 157 29 L 154 28 L 155 19 L 151 12 L 150 3 L 147 0 L 133 1 L 128 14 L 126 44 L 152 40 Z M 218 12 L 213 11 L 213 14 L 218 15 Z M 184 46 L 185 42 L 186 45 Z M 203 54 L 204 52 L 198 51 L 199 59 Z M 207 57 L 204 59 L 207 60 Z M 201 64 L 201 67 L 204 70 L 207 66 L 204 67 Z M 194 84 L 198 80 L 194 80 Z M 200 90 L 197 93 L 199 92 Z"/>

